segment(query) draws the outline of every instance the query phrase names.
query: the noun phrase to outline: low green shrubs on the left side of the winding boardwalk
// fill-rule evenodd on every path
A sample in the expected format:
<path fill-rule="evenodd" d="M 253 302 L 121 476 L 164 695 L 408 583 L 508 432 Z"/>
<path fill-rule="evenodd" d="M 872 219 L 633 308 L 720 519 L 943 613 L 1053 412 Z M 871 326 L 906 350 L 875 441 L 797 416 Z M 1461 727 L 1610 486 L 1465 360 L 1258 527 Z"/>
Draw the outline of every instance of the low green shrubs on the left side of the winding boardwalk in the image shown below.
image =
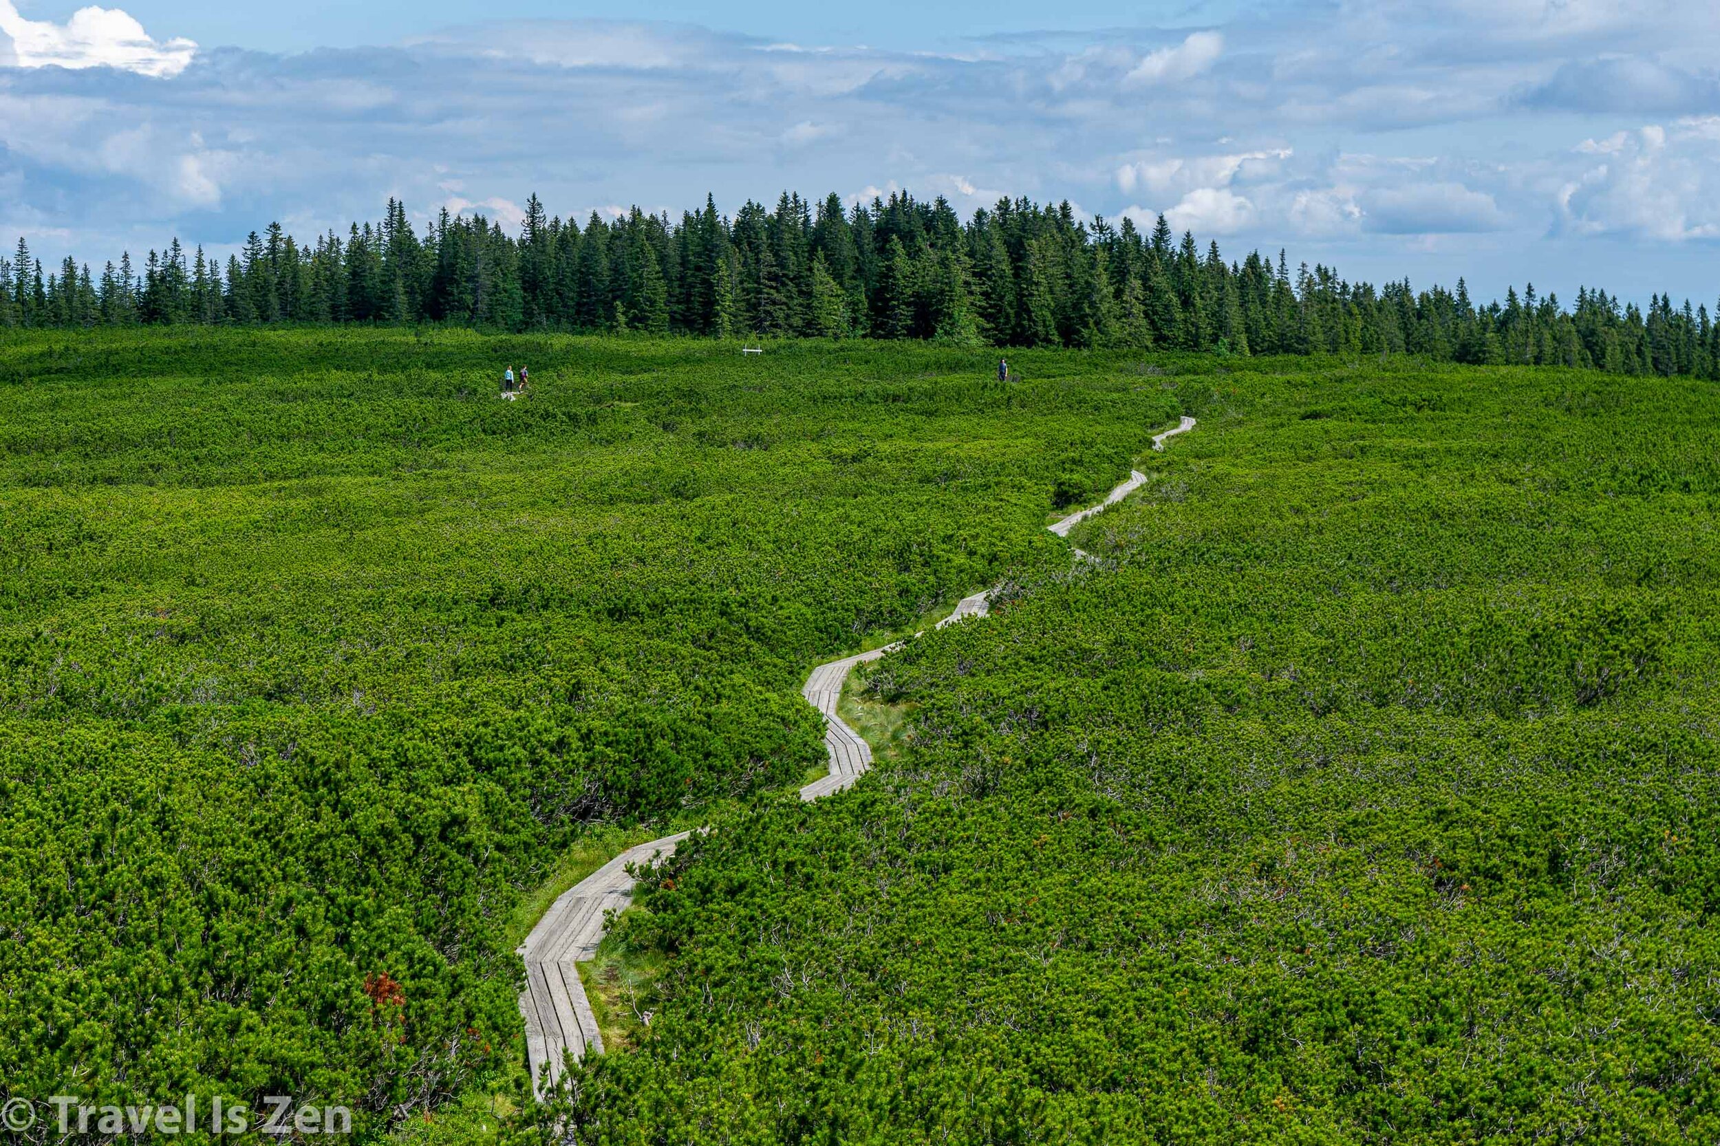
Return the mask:
<path fill-rule="evenodd" d="M 1175 416 L 1015 358 L 0 332 L 0 1098 L 494 1122 L 533 912 L 800 783 L 810 664 L 1054 563 Z"/>

